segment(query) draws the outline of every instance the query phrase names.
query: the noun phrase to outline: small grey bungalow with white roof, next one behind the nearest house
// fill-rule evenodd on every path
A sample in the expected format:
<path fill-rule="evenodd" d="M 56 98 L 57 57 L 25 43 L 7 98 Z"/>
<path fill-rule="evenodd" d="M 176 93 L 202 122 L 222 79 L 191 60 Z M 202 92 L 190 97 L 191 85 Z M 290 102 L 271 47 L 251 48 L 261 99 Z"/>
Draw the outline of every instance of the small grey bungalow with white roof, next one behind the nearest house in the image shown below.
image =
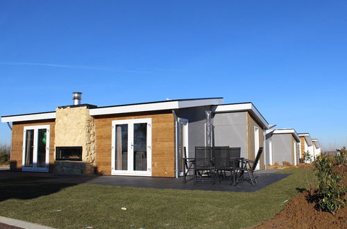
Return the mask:
<path fill-rule="evenodd" d="M 267 164 L 282 164 L 289 162 L 292 165 L 299 163 L 300 138 L 294 128 L 276 129 L 266 136 Z"/>

